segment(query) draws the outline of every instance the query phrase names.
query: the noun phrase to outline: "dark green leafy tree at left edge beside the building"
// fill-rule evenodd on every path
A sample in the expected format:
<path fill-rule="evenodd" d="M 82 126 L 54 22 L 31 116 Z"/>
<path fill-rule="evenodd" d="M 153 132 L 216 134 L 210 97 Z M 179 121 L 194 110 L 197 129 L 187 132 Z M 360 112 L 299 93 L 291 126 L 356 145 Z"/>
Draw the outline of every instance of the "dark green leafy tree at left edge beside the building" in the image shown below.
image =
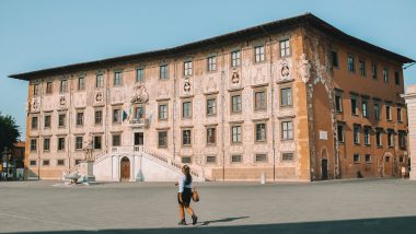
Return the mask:
<path fill-rule="evenodd" d="M 20 138 L 19 126 L 11 115 L 0 113 L 0 155 L 5 148 L 11 149 Z"/>

